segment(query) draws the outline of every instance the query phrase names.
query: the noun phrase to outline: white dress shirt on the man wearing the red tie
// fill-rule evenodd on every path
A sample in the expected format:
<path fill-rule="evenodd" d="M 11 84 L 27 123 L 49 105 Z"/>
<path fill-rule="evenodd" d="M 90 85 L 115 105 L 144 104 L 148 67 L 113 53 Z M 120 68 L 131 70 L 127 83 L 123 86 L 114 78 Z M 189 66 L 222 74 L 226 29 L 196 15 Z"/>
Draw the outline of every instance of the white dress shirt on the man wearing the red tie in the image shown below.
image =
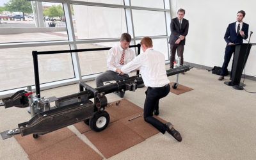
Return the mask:
<path fill-rule="evenodd" d="M 108 70 L 113 70 L 114 72 L 116 72 L 116 68 L 120 69 L 123 67 L 123 65 L 120 65 L 123 50 L 124 49 L 120 45 L 116 45 L 108 51 Z M 133 58 L 134 51 L 132 51 L 132 49 L 130 48 L 125 49 L 124 65 L 129 63 L 129 61 L 133 60 Z"/>

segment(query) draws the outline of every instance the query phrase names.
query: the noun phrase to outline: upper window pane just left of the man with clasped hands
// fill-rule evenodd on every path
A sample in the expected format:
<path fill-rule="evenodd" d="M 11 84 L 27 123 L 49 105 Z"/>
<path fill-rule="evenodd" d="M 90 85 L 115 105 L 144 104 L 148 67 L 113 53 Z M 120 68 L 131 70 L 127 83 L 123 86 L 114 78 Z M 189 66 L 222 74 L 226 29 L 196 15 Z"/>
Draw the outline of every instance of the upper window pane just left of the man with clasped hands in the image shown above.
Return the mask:
<path fill-rule="evenodd" d="M 166 35 L 164 12 L 132 10 L 135 36 Z"/>

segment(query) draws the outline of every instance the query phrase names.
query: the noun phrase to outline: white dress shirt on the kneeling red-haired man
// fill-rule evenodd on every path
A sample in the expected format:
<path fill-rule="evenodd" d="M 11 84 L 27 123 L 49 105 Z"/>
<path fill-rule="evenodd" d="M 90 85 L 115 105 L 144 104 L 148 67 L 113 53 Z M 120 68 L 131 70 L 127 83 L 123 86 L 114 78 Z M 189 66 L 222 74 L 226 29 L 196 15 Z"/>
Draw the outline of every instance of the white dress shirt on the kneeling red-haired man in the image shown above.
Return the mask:
<path fill-rule="evenodd" d="M 130 63 L 121 68 L 122 72 L 129 73 L 140 67 L 141 77 L 145 86 L 162 87 L 170 83 L 166 75 L 164 54 L 148 48 Z"/>

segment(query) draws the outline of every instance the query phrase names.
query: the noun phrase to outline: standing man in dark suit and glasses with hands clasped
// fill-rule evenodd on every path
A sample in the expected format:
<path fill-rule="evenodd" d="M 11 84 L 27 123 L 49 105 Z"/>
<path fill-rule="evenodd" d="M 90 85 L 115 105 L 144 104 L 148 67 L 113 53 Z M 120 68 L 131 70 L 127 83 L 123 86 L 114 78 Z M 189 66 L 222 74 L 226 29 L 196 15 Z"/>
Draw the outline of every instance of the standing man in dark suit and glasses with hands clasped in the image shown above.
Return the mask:
<path fill-rule="evenodd" d="M 169 39 L 169 44 L 171 45 L 171 58 L 170 58 L 170 68 L 173 68 L 173 61 L 175 59 L 175 52 L 181 57 L 180 65 L 183 65 L 183 51 L 186 41 L 186 36 L 188 35 L 188 20 L 184 19 L 185 10 L 178 10 L 178 17 L 172 19 L 171 21 L 171 35 Z"/>

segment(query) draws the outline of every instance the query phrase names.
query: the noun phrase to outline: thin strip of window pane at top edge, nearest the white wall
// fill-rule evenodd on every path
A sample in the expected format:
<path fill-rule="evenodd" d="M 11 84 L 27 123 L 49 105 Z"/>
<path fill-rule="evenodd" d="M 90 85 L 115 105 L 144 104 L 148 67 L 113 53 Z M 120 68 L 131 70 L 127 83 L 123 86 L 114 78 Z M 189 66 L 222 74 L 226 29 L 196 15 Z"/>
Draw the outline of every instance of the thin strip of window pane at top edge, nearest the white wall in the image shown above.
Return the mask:
<path fill-rule="evenodd" d="M 163 0 L 131 0 L 132 6 L 143 6 L 148 8 L 164 8 Z"/>

